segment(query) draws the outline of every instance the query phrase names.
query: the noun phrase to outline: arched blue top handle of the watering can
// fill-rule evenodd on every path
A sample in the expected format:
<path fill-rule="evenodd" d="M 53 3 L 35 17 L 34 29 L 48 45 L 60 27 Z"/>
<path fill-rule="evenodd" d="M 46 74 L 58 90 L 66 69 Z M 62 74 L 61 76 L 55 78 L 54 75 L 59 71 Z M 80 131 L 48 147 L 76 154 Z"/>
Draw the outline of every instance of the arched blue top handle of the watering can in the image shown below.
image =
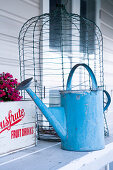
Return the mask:
<path fill-rule="evenodd" d="M 71 81 L 72 81 L 72 76 L 73 76 L 73 73 L 74 71 L 76 70 L 76 68 L 78 66 L 83 66 L 87 69 L 87 71 L 89 72 L 90 76 L 91 76 L 91 79 L 92 79 L 92 90 L 97 90 L 98 87 L 97 87 L 97 81 L 96 81 L 96 78 L 95 78 L 95 75 L 93 73 L 93 71 L 91 70 L 91 68 L 86 65 L 86 64 L 76 64 L 70 71 L 70 74 L 68 76 L 68 80 L 67 80 L 67 86 L 66 86 L 66 90 L 71 90 Z"/>

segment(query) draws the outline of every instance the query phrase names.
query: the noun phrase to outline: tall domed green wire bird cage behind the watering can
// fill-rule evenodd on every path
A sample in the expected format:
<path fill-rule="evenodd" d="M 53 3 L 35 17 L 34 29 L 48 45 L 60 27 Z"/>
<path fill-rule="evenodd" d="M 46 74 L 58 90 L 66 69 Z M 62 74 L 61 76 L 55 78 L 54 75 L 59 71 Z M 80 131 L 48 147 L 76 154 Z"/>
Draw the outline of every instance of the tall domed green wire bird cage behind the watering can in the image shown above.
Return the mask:
<path fill-rule="evenodd" d="M 71 68 L 86 63 L 93 70 L 98 86 L 104 88 L 103 38 L 98 26 L 63 5 L 56 10 L 29 19 L 19 34 L 21 81 L 33 77 L 32 90 L 49 107 L 60 106 L 59 90 L 66 89 Z M 91 89 L 87 71 L 80 67 L 72 80 L 72 89 Z M 29 96 L 24 91 L 25 99 Z M 42 113 L 37 111 L 38 137 L 56 135 Z"/>

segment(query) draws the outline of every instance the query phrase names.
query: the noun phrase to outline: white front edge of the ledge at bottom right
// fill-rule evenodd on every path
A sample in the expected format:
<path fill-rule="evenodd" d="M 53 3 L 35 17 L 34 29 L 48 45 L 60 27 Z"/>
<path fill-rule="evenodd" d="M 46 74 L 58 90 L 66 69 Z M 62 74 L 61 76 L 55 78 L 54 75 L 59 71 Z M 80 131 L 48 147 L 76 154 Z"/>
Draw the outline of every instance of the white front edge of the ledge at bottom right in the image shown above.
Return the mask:
<path fill-rule="evenodd" d="M 113 161 L 113 143 L 106 145 L 103 150 L 89 152 L 80 159 L 60 168 L 60 170 L 99 170 L 111 161 Z"/>

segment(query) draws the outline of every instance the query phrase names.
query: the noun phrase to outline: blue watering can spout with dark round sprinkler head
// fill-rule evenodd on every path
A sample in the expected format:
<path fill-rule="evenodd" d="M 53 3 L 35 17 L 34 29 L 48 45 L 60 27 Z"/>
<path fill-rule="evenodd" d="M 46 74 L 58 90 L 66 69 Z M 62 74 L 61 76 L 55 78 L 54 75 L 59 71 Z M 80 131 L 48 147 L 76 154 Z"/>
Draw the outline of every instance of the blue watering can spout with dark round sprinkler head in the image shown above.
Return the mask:
<path fill-rule="evenodd" d="M 33 99 L 35 104 L 47 118 L 49 123 L 53 126 L 54 130 L 61 138 L 61 140 L 65 140 L 66 138 L 66 117 L 65 111 L 63 107 L 47 107 L 39 97 L 29 88 L 29 85 L 32 81 L 32 78 L 26 79 L 22 81 L 16 90 L 26 90 L 30 97 Z"/>

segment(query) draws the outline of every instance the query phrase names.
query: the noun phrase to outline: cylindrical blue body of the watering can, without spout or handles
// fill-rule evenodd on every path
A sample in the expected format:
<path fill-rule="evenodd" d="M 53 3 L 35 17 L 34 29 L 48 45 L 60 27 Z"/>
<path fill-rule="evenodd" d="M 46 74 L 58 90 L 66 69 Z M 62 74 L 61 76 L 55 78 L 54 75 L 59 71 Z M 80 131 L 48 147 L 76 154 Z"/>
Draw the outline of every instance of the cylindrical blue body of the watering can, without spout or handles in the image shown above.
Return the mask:
<path fill-rule="evenodd" d="M 72 151 L 103 149 L 103 91 L 62 91 L 61 105 L 67 127 L 62 148 Z"/>

